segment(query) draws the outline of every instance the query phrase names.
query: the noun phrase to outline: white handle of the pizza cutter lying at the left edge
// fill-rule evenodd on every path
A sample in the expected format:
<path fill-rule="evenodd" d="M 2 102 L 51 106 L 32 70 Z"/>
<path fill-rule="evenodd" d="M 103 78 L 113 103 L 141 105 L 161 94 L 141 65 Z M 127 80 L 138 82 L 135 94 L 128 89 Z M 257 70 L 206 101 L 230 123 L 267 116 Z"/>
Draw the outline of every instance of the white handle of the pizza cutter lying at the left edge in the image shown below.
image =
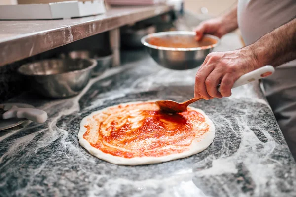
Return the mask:
<path fill-rule="evenodd" d="M 17 107 L 16 105 L 0 105 L 0 120 L 25 118 L 36 123 L 44 123 L 47 113 L 40 109 Z"/>

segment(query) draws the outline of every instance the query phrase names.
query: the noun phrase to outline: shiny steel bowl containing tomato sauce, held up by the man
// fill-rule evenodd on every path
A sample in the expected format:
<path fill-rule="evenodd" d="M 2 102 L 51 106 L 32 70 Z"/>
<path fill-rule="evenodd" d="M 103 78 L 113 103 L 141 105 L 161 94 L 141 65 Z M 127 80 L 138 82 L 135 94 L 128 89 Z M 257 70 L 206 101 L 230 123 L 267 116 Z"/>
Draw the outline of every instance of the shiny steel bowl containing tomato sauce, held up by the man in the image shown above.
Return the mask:
<path fill-rule="evenodd" d="M 141 42 L 146 46 L 151 57 L 160 66 L 174 70 L 186 70 L 200 66 L 206 56 L 220 44 L 220 39 L 213 35 L 205 35 L 205 37 L 215 39 L 217 43 L 197 48 L 171 48 L 149 44 L 151 38 L 170 38 L 176 36 L 184 36 L 192 39 L 192 42 L 195 41 L 195 32 L 176 31 L 152 33 L 143 37 Z"/>

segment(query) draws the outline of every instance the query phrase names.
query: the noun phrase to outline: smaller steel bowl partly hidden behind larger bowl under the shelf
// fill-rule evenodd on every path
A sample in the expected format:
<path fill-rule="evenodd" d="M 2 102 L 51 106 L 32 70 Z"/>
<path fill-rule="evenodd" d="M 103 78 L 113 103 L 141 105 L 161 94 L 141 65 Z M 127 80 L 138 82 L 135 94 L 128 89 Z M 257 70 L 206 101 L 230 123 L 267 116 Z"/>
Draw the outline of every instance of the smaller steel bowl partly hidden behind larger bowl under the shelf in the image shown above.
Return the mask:
<path fill-rule="evenodd" d="M 100 75 L 112 65 L 113 55 L 104 51 L 71 51 L 68 54 L 61 55 L 62 58 L 71 59 L 94 59 L 97 61 L 97 66 L 93 69 L 93 75 Z"/>

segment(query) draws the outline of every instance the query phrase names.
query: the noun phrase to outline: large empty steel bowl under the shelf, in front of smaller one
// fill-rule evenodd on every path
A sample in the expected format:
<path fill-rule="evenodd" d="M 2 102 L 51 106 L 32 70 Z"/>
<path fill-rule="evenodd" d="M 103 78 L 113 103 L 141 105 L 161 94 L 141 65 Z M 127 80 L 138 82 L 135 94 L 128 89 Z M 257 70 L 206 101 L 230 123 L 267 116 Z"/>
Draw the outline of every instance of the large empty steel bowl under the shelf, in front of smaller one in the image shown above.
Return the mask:
<path fill-rule="evenodd" d="M 18 72 L 30 80 L 31 87 L 38 93 L 66 98 L 82 91 L 96 65 L 91 59 L 51 59 L 23 65 Z"/>

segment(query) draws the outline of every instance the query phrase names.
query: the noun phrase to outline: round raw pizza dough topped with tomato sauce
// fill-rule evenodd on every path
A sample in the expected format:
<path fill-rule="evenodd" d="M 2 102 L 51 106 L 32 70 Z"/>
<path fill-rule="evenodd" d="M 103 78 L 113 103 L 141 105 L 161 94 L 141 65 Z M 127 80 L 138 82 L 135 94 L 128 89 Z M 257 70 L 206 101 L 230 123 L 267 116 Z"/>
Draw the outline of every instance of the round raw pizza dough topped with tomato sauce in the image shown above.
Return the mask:
<path fill-rule="evenodd" d="M 173 115 L 158 109 L 146 101 L 95 111 L 82 119 L 79 143 L 107 162 L 144 165 L 185 158 L 213 142 L 215 126 L 202 110 L 188 107 L 188 114 Z"/>

